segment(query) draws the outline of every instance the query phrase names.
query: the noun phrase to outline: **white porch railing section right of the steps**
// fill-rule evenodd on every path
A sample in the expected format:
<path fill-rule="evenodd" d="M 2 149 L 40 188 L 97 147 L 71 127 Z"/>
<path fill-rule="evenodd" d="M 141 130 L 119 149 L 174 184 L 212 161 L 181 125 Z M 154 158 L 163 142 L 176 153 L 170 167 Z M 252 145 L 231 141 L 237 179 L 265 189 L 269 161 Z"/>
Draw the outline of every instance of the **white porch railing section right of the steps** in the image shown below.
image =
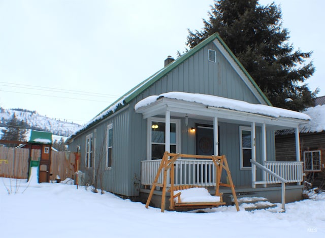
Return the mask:
<path fill-rule="evenodd" d="M 299 183 L 303 181 L 303 162 L 279 162 L 279 161 L 265 161 L 265 166 L 270 169 L 270 171 L 279 175 L 288 183 Z M 266 182 L 268 184 L 281 183 L 278 179 L 267 174 Z"/>

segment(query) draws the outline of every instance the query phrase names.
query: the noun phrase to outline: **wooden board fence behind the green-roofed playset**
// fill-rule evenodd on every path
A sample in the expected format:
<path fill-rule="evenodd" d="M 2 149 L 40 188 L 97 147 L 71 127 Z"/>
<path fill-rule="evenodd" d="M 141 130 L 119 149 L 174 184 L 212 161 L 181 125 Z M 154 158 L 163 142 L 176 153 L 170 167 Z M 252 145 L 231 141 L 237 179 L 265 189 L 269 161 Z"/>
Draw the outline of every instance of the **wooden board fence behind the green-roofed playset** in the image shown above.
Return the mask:
<path fill-rule="evenodd" d="M 29 149 L 0 147 L 0 177 L 27 179 Z M 41 150 L 31 150 L 31 160 L 40 160 Z M 72 178 L 76 156 L 70 152 L 51 152 L 50 180 Z"/>

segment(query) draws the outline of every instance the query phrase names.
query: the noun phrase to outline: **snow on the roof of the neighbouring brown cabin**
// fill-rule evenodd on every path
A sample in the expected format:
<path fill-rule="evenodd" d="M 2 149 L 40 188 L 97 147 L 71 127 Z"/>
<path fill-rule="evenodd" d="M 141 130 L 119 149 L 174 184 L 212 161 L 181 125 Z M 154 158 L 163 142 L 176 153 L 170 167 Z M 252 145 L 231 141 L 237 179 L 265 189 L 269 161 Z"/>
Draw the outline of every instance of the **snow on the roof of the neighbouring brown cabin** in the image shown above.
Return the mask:
<path fill-rule="evenodd" d="M 301 133 L 321 132 L 325 130 L 325 105 L 307 108 L 305 114 L 311 117 L 308 124 L 300 125 Z"/>

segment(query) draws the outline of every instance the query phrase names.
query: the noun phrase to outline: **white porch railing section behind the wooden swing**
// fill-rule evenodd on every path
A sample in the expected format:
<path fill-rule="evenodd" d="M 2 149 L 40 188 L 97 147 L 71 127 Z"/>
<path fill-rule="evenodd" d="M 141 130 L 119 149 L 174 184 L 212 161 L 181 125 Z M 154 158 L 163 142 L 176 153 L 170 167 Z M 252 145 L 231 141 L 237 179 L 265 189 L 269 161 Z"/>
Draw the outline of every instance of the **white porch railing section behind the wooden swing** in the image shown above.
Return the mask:
<path fill-rule="evenodd" d="M 152 185 L 160 162 L 161 159 L 141 161 L 141 184 Z M 215 186 L 215 166 L 212 160 L 178 159 L 174 166 L 174 185 Z M 163 183 L 163 171 L 158 178 L 158 183 Z M 170 187 L 170 182 L 167 186 Z"/>

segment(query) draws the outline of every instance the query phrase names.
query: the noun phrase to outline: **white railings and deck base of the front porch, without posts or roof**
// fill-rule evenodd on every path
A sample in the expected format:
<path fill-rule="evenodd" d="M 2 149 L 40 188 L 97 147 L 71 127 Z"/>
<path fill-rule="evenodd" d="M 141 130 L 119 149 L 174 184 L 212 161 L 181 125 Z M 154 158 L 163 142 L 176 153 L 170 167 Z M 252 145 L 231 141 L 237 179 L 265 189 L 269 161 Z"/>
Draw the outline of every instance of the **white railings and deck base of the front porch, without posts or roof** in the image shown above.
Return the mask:
<path fill-rule="evenodd" d="M 141 184 L 143 185 L 140 189 L 140 197 L 145 201 L 150 193 L 152 182 L 158 171 L 161 160 L 144 160 L 141 161 Z M 274 178 L 272 175 L 264 172 L 264 180 L 252 182 L 252 185 L 241 185 L 236 186 L 235 190 L 238 197 L 241 196 L 254 196 L 254 197 L 265 197 L 271 202 L 294 202 L 302 199 L 303 185 L 303 163 L 302 162 L 274 162 L 266 161 L 265 167 L 269 168 L 275 174 L 281 176 L 286 180 L 285 190 L 281 186 L 281 181 Z M 205 159 L 178 159 L 174 163 L 174 185 L 194 185 L 199 187 L 207 187 L 211 194 L 215 193 L 216 181 L 215 173 L 216 167 L 211 160 Z M 252 179 L 256 177 L 254 173 L 251 175 Z M 223 180 L 220 181 L 219 192 L 223 193 L 223 201 L 226 205 L 233 205 L 232 190 L 229 186 L 228 178 L 222 176 Z M 171 181 L 170 175 L 167 174 L 167 187 L 170 188 Z M 158 182 L 163 184 L 163 172 L 159 175 Z M 225 185 L 225 186 L 222 186 Z M 284 192 L 284 194 L 283 194 Z M 161 187 L 153 193 L 151 199 L 151 206 L 160 207 L 161 198 L 163 191 Z M 282 200 L 284 196 L 284 201 Z M 170 197 L 170 193 L 166 193 L 166 200 Z M 168 208 L 168 203 L 165 207 Z"/>

